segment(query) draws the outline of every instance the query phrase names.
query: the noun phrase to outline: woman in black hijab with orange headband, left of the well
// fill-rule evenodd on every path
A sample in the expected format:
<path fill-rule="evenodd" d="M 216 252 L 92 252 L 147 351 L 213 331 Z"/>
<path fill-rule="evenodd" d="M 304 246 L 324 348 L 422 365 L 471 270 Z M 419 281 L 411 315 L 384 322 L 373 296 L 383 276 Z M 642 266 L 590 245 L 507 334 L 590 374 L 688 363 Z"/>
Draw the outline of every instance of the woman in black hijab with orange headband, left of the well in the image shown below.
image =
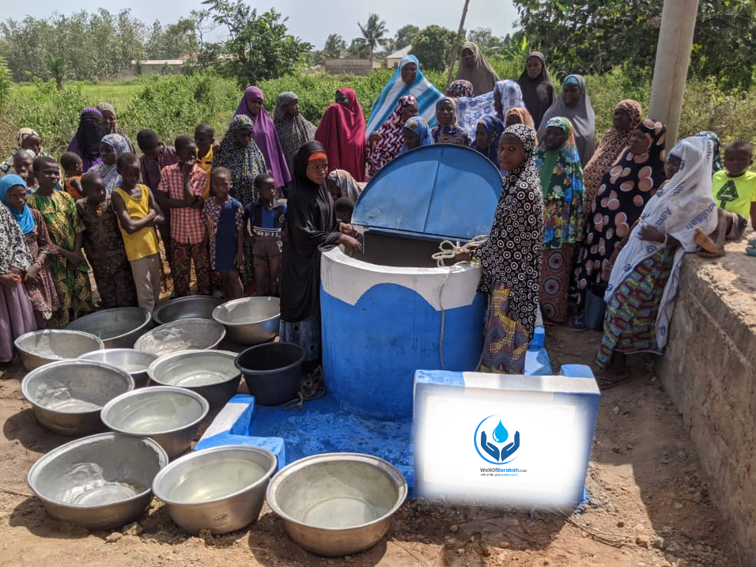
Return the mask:
<path fill-rule="evenodd" d="M 321 358 L 320 249 L 343 244 L 355 253 L 362 250 L 353 237 L 357 235 L 354 228 L 341 225 L 348 234 L 339 232 L 325 183 L 327 172 L 328 157 L 320 142 L 309 141 L 299 148 L 294 156 L 280 275 L 280 340 L 301 345 L 311 368 Z"/>

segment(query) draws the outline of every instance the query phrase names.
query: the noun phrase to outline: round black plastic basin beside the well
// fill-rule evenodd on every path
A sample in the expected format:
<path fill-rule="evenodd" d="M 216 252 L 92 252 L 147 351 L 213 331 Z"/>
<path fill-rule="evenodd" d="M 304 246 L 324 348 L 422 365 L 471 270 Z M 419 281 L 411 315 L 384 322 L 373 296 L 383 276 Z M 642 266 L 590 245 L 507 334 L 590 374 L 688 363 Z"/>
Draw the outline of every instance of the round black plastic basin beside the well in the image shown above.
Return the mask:
<path fill-rule="evenodd" d="M 296 398 L 304 360 L 305 349 L 293 342 L 266 342 L 241 352 L 234 364 L 258 404 L 280 405 Z"/>

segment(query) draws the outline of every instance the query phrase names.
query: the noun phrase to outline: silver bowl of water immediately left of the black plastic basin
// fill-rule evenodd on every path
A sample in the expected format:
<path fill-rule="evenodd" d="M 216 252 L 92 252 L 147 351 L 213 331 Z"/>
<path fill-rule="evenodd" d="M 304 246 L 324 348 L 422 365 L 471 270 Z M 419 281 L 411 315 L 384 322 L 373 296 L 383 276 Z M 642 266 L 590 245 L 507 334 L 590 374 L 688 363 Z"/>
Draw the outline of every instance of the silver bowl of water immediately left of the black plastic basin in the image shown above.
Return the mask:
<path fill-rule="evenodd" d="M 161 356 L 147 368 L 150 380 L 160 386 L 179 386 L 197 392 L 210 407 L 225 404 L 236 394 L 241 373 L 230 351 L 179 351 Z"/>

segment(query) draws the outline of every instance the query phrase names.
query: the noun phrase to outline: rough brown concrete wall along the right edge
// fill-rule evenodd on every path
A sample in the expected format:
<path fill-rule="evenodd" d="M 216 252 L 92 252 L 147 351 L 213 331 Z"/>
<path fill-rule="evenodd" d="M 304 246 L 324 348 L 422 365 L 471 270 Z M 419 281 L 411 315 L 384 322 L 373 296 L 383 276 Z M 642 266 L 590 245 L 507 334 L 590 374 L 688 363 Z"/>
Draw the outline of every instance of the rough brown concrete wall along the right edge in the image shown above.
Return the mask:
<path fill-rule="evenodd" d="M 686 256 L 657 373 L 683 416 L 711 500 L 756 565 L 756 259 Z M 742 555 L 741 555 L 742 556 Z"/>

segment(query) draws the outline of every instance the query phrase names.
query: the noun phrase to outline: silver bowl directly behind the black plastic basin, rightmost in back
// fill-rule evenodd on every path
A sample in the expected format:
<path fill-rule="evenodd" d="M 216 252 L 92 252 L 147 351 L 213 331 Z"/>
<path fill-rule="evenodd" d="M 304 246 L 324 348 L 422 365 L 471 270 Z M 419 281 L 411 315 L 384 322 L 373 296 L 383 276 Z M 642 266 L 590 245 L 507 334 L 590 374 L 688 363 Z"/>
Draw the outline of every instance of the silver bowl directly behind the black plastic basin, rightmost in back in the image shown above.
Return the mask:
<path fill-rule="evenodd" d="M 226 328 L 228 338 L 240 345 L 259 345 L 278 334 L 280 300 L 277 297 L 243 297 L 218 305 L 212 318 Z"/>

